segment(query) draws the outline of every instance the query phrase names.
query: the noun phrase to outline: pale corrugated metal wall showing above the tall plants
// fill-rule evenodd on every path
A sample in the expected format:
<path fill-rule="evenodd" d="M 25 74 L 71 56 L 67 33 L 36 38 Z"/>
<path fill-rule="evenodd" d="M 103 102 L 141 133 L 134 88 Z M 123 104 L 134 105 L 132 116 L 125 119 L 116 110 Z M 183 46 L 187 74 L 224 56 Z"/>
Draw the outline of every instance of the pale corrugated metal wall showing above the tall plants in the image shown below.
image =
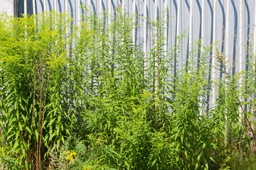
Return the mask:
<path fill-rule="evenodd" d="M 178 67 L 183 67 L 188 59 L 188 53 L 193 48 L 191 43 L 203 38 L 201 42 L 206 46 L 218 41 L 213 49 L 218 47 L 223 55 L 228 56 L 230 68 L 233 62 L 237 62 L 231 71 L 232 74 L 248 69 L 246 45 L 250 45 L 250 35 L 256 35 L 255 0 L 19 0 L 18 11 L 19 15 L 51 10 L 68 12 L 74 18 L 73 24 L 77 25 L 82 12 L 81 4 L 90 6 L 90 10 L 96 14 L 108 10 L 113 15 L 115 7 L 122 7 L 128 13 L 137 13 L 138 16 L 149 20 L 154 20 L 167 8 L 169 12 L 165 18 L 171 20 L 166 23 L 166 50 L 176 44 L 176 35 L 181 35 L 185 30 L 188 35 L 183 38 Z M 134 41 L 142 50 L 149 52 L 146 20 L 142 18 L 136 24 L 141 27 L 137 31 L 134 30 Z M 256 52 L 256 38 L 253 42 L 252 48 Z M 213 52 L 209 52 L 210 56 L 212 54 Z M 214 57 L 210 58 L 211 63 L 215 63 L 215 60 Z M 211 69 L 211 78 L 222 76 L 218 70 Z"/>

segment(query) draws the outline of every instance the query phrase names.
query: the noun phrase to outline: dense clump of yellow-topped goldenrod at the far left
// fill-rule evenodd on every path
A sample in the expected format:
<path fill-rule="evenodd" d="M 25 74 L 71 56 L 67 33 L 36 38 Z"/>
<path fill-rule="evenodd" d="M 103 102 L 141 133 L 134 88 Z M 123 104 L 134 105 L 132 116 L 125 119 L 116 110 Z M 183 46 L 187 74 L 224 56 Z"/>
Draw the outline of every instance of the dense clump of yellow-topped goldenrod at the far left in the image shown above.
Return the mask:
<path fill-rule="evenodd" d="M 41 169 L 47 147 L 59 149 L 70 134 L 61 94 L 71 40 L 65 35 L 71 18 L 65 16 L 1 17 L 1 161 L 6 169 Z"/>

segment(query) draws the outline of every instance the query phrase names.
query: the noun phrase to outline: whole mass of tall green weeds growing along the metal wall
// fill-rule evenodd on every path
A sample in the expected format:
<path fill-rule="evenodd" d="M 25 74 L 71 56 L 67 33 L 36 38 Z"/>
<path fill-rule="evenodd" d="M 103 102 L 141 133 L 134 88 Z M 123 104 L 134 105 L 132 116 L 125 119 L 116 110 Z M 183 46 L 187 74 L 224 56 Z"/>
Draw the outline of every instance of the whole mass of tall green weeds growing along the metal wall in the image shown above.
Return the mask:
<path fill-rule="evenodd" d="M 181 43 L 164 50 L 162 16 L 148 21 L 146 54 L 133 42 L 135 16 L 120 8 L 87 12 L 67 34 L 71 21 L 55 12 L 1 16 L 3 169 L 255 167 L 252 45 L 249 72 L 231 75 L 225 56 L 213 55 L 225 76 L 211 82 L 218 91 L 207 110 L 212 47 L 194 48 L 179 70 Z"/>

